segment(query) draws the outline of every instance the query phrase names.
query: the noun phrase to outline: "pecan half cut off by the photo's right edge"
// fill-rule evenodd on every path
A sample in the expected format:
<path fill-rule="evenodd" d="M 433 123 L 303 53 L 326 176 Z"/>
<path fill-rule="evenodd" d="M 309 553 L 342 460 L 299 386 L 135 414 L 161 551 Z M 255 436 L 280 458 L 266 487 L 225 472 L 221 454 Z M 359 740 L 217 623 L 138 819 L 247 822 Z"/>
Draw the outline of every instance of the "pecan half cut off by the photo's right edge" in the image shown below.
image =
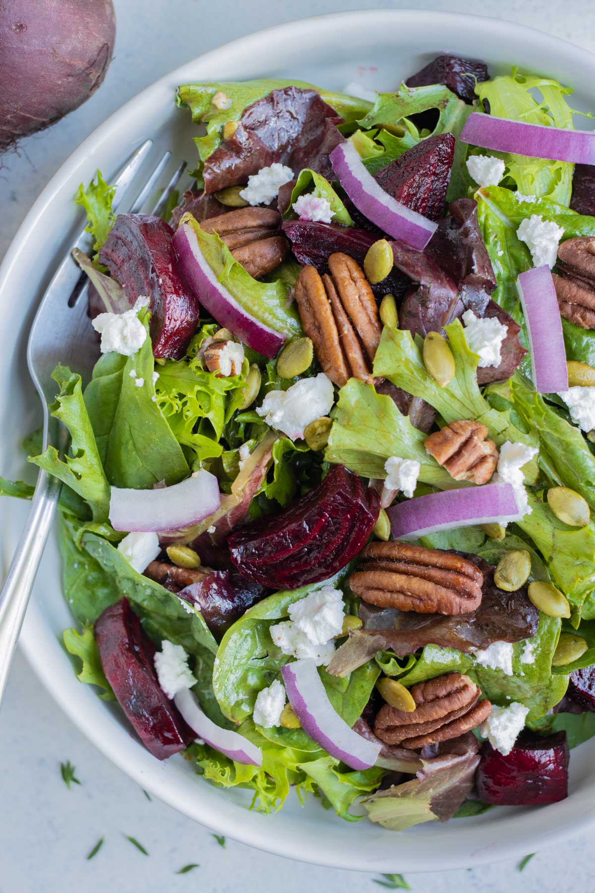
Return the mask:
<path fill-rule="evenodd" d="M 595 329 L 595 236 L 568 238 L 558 248 L 552 273 L 560 313 L 583 329 Z"/>

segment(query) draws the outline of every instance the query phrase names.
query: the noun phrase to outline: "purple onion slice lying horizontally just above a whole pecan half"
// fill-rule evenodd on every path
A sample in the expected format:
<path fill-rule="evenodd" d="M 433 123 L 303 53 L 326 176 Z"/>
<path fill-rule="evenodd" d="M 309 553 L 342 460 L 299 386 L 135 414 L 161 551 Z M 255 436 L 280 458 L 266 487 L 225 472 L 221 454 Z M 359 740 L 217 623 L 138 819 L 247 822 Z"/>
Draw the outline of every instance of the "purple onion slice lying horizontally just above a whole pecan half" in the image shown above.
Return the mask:
<path fill-rule="evenodd" d="M 453 527 L 520 521 L 511 484 L 484 484 L 407 499 L 387 510 L 393 539 L 417 539 Z"/>

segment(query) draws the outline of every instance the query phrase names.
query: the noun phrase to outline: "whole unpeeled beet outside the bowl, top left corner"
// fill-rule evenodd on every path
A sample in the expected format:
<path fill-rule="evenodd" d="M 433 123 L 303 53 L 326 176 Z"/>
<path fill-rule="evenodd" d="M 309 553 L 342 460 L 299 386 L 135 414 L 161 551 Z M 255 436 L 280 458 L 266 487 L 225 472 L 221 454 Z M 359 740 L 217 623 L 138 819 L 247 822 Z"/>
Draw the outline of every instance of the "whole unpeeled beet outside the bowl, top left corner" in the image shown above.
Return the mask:
<path fill-rule="evenodd" d="M 0 152 L 95 93 L 112 60 L 112 0 L 0 4 Z"/>

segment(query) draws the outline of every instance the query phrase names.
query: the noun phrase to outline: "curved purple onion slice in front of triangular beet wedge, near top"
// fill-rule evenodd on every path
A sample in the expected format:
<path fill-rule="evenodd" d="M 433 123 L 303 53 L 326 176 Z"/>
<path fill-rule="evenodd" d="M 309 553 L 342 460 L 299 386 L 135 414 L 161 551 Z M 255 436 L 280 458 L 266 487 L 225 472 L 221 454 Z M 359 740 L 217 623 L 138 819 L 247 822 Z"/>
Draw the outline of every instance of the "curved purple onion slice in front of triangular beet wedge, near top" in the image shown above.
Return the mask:
<path fill-rule="evenodd" d="M 368 173 L 350 140 L 336 146 L 330 159 L 343 189 L 369 221 L 393 238 L 423 251 L 433 237 L 437 223 L 389 196 Z"/>

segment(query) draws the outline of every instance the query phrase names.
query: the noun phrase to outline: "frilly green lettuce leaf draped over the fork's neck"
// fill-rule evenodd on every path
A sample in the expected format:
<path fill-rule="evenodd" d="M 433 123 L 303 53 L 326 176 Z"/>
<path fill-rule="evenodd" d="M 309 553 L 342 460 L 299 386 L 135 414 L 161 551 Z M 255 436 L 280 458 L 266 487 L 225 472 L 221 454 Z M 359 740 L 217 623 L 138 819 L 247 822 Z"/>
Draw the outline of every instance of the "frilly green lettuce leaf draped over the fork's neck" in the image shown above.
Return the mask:
<path fill-rule="evenodd" d="M 78 493 L 89 505 L 94 521 L 106 521 L 110 485 L 103 472 L 92 421 L 83 400 L 80 375 L 58 364 L 52 378 L 58 382 L 60 393 L 50 405 L 50 412 L 70 432 L 70 455 L 61 459 L 55 447 L 47 447 L 45 453 L 29 456 L 29 462 L 53 474 Z"/>

